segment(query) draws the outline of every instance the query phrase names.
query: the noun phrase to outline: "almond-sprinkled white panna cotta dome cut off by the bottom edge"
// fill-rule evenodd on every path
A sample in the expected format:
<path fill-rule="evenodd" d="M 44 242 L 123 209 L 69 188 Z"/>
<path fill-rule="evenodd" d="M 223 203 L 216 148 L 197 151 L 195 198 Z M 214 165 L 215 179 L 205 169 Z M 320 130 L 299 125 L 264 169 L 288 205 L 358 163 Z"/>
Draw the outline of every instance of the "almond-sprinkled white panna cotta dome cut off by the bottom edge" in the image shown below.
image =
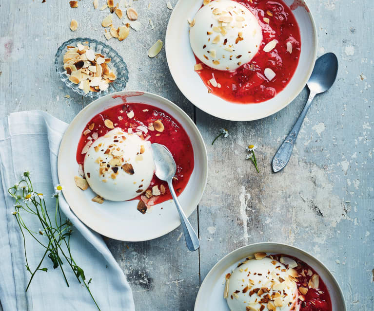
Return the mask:
<path fill-rule="evenodd" d="M 296 275 L 269 257 L 248 259 L 226 281 L 227 304 L 231 311 L 297 311 Z"/>

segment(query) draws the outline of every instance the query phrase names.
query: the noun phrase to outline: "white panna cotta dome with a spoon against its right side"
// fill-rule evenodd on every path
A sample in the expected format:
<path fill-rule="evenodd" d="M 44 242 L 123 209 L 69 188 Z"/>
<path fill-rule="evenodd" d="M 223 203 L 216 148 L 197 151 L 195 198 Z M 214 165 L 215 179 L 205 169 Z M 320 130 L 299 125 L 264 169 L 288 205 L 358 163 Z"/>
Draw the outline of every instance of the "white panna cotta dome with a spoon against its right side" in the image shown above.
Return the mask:
<path fill-rule="evenodd" d="M 151 143 L 121 128 L 95 140 L 84 158 L 88 184 L 106 200 L 136 198 L 150 186 L 154 172 Z"/>

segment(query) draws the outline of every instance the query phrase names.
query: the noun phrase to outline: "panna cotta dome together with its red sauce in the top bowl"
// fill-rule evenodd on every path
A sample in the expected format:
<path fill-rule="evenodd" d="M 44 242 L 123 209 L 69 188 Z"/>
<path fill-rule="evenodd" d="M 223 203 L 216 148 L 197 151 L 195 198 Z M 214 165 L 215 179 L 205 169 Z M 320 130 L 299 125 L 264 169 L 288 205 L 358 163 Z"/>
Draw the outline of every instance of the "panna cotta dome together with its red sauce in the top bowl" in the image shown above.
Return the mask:
<path fill-rule="evenodd" d="M 296 19 L 282 0 L 213 0 L 197 12 L 190 42 L 208 92 L 238 104 L 275 97 L 301 51 Z"/>

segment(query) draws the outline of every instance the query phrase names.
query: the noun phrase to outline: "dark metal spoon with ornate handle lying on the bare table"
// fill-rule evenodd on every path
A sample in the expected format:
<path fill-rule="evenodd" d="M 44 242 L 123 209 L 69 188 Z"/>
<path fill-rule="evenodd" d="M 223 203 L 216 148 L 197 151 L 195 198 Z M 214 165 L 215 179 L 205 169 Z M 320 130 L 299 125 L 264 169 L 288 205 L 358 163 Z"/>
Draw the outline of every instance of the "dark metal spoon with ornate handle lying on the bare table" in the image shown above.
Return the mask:
<path fill-rule="evenodd" d="M 334 84 L 338 69 L 337 57 L 334 53 L 327 53 L 319 57 L 315 62 L 313 73 L 308 81 L 308 88 L 310 90 L 309 98 L 301 111 L 291 132 L 288 134 L 283 144 L 276 151 L 273 159 L 273 171 L 279 172 L 283 169 L 291 158 L 292 149 L 295 146 L 297 134 L 303 124 L 304 118 L 312 104 L 313 98 L 316 94 L 323 93 L 331 88 Z"/>

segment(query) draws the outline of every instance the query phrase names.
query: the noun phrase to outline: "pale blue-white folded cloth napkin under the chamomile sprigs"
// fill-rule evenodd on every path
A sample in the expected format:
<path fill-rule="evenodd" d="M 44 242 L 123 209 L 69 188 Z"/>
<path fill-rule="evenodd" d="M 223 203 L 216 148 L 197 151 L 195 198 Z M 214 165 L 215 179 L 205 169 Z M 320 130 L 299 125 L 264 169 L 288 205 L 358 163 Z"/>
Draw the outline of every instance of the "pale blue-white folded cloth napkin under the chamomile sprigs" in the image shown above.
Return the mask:
<path fill-rule="evenodd" d="M 54 185 L 59 183 L 57 155 L 66 128 L 66 123 L 42 111 L 12 113 L 0 120 L 0 302 L 4 311 L 98 310 L 66 262 L 64 270 L 69 288 L 61 271 L 53 269 L 52 261 L 45 258 L 41 267 L 48 268 L 48 272 L 38 271 L 25 292 L 31 274 L 25 269 L 23 239 L 12 215 L 14 201 L 8 188 L 19 182 L 20 174 L 28 170 L 34 190 L 44 191 L 45 196 L 50 197 Z M 47 208 L 53 208 L 54 199 L 48 200 Z M 101 236 L 73 214 L 62 195 L 59 205 L 74 224 L 72 256 L 84 270 L 86 280 L 92 278 L 90 290 L 101 311 L 135 310 L 125 275 Z M 51 213 L 54 215 L 54 210 Z M 36 226 L 37 222 L 35 220 Z M 25 236 L 26 254 L 33 270 L 44 250 L 35 240 Z"/>

